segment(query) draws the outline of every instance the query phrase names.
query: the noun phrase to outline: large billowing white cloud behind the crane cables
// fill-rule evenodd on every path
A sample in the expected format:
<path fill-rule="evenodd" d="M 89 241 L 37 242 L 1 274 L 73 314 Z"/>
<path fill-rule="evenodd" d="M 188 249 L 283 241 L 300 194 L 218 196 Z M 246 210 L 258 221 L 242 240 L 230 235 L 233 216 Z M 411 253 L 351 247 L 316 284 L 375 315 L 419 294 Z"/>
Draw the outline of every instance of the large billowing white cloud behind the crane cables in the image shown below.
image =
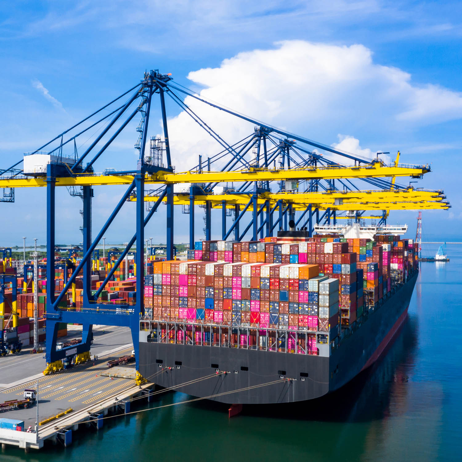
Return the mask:
<path fill-rule="evenodd" d="M 461 93 L 415 84 L 409 73 L 375 63 L 371 50 L 359 44 L 280 42 L 273 49 L 239 53 L 219 67 L 191 72 L 188 79 L 201 89 L 201 97 L 366 157 L 390 149 L 361 148 L 355 136 L 368 133 L 393 143 L 416 128 L 462 117 Z M 185 103 L 230 144 L 253 130 L 253 124 L 192 97 Z M 339 133 L 351 136 L 335 143 Z M 196 164 L 198 154 L 222 149 L 184 111 L 169 120 L 169 137 L 177 170 Z"/>

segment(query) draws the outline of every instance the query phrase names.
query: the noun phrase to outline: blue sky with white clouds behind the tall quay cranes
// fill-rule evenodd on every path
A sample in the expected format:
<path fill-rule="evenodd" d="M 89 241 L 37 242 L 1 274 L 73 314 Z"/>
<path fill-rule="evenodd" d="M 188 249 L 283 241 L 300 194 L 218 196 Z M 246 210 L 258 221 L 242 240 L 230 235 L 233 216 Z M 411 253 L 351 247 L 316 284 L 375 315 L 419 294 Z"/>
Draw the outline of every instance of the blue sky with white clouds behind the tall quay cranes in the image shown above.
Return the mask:
<path fill-rule="evenodd" d="M 159 69 L 210 100 L 311 140 L 366 157 L 390 152 L 387 161 L 399 150 L 403 163 L 431 164 L 413 186 L 443 189 L 452 208 L 423 213 L 424 241 L 460 240 L 461 10 L 460 2 L 444 1 L 0 2 L 0 168 Z M 199 154 L 220 149 L 167 99 L 173 163 L 184 171 Z M 190 97 L 185 102 L 230 144 L 253 130 Z M 136 168 L 138 122 L 98 159 L 97 171 Z M 161 130 L 156 100 L 148 134 Z M 79 139 L 78 151 L 91 134 Z M 122 194 L 121 187 L 95 188 L 94 235 Z M 18 188 L 15 203 L 0 203 L 0 244 L 21 244 L 23 236 L 44 243 L 45 206 L 43 188 Z M 81 241 L 81 208 L 79 198 L 58 189 L 56 242 Z M 202 215 L 198 208 L 196 239 Z M 391 212 L 389 223 L 407 223 L 413 237 L 416 216 Z M 187 242 L 188 215 L 177 208 L 175 219 L 175 241 Z M 164 223 L 161 207 L 146 237 L 165 242 Z M 133 234 L 134 204 L 125 204 L 107 242 Z M 212 237 L 221 238 L 221 212 L 213 213 Z"/>

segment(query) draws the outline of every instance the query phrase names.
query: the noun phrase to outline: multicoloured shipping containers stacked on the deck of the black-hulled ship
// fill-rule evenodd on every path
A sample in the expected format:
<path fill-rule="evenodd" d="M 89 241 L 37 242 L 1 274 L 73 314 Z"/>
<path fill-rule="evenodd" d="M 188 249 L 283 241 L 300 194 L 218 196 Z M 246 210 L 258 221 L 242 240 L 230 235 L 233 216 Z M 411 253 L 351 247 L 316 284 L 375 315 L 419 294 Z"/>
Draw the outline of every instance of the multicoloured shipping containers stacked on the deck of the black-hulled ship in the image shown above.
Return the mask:
<path fill-rule="evenodd" d="M 145 277 L 146 314 L 163 322 L 306 332 L 308 353 L 316 354 L 316 341 L 332 341 L 340 324 L 351 326 L 407 278 L 416 265 L 410 249 L 396 236 L 201 241 L 188 252 L 194 260 L 153 264 Z M 390 267 L 395 258 L 401 267 Z M 203 335 L 196 343 L 207 341 Z"/>

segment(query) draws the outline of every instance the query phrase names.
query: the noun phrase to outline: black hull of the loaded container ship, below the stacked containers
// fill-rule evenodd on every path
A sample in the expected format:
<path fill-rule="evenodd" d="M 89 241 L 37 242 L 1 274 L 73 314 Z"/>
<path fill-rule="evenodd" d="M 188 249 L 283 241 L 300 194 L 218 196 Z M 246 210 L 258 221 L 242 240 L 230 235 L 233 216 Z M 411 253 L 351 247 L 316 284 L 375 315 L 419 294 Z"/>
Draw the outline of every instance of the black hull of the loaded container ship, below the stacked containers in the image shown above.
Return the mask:
<path fill-rule="evenodd" d="M 163 388 L 212 375 L 176 390 L 224 403 L 266 404 L 319 398 L 340 389 L 378 359 L 406 317 L 416 279 L 417 274 L 378 309 L 370 311 L 363 325 L 342 338 L 330 356 L 154 343 L 147 342 L 146 333 L 140 332 L 140 373 Z M 213 375 L 217 367 L 229 373 Z M 258 388 L 248 389 L 254 386 Z"/>

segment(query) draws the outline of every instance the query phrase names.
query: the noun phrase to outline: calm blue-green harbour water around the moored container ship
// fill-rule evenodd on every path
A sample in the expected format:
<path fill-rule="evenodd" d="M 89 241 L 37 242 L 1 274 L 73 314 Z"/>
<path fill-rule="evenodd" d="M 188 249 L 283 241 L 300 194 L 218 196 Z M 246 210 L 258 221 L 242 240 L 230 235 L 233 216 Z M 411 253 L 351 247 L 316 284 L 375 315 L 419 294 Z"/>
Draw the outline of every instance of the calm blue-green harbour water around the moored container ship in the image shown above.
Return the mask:
<path fill-rule="evenodd" d="M 7 449 L 0 461 L 461 460 L 462 245 L 449 245 L 448 255 L 449 263 L 421 264 L 407 322 L 386 356 L 316 408 L 231 420 L 226 407 L 205 402 L 149 409 L 108 419 L 99 433 L 74 432 L 71 447 Z M 186 399 L 170 393 L 151 407 Z"/>

